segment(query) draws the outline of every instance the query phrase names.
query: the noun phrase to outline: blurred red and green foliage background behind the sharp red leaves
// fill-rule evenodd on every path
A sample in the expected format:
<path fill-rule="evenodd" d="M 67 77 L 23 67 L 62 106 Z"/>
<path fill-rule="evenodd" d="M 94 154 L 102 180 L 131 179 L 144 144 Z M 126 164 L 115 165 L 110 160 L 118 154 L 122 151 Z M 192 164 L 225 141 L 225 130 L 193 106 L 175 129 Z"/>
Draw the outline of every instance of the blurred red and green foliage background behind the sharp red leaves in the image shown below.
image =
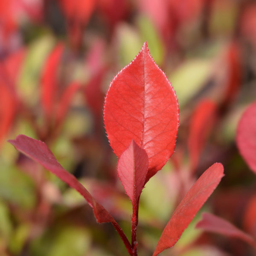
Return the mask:
<path fill-rule="evenodd" d="M 225 177 L 201 212 L 256 238 L 256 175 L 235 140 L 256 99 L 255 1 L 0 0 L 1 256 L 128 254 L 78 193 L 7 140 L 25 134 L 47 143 L 130 237 L 131 203 L 102 108 L 144 41 L 177 93 L 180 127 L 175 153 L 141 196 L 139 255 L 152 254 L 180 199 L 215 162 Z M 201 212 L 161 255 L 256 255 L 239 239 L 195 229 Z"/>

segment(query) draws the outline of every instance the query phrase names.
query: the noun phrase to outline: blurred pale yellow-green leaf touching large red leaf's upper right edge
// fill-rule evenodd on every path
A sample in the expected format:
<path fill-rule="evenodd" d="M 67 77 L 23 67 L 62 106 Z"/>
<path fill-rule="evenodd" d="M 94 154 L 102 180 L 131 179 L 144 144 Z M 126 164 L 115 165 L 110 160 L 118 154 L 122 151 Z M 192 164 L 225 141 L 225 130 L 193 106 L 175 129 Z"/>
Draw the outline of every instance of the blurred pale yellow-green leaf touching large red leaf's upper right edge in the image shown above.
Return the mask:
<path fill-rule="evenodd" d="M 200 91 L 212 72 L 211 60 L 190 60 L 184 62 L 170 76 L 175 89 L 179 106 L 186 105 L 198 91 Z M 184 75 L 186 74 L 186 76 Z"/>

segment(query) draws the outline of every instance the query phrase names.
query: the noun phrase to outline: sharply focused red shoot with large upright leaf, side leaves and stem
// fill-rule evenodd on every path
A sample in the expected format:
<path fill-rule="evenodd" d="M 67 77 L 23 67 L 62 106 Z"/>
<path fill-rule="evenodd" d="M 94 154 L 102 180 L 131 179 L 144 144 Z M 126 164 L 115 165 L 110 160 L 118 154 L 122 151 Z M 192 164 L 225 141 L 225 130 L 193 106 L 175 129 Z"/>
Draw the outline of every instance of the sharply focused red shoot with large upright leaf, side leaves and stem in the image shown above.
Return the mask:
<path fill-rule="evenodd" d="M 107 209 L 63 169 L 44 142 L 25 135 L 9 142 L 76 189 L 93 208 L 97 222 L 111 222 L 129 255 L 137 256 L 140 195 L 148 180 L 172 156 L 179 125 L 175 91 L 152 59 L 146 42 L 134 60 L 111 82 L 105 97 L 104 122 L 110 145 L 119 158 L 119 179 L 132 203 L 131 242 Z M 164 228 L 153 256 L 174 246 L 220 182 L 223 171 L 221 163 L 213 164 L 189 189 Z"/>

